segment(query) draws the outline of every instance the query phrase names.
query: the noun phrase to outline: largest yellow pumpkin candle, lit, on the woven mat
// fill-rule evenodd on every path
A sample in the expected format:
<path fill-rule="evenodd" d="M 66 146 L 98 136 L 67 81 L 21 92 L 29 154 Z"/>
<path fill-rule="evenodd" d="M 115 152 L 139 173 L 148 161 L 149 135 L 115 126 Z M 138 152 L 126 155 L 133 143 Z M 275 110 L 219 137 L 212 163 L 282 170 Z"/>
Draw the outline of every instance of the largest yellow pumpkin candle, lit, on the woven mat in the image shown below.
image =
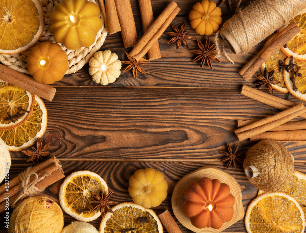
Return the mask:
<path fill-rule="evenodd" d="M 86 0 L 64 0 L 50 13 L 50 29 L 54 40 L 67 49 L 89 47 L 102 28 L 100 9 Z"/>

